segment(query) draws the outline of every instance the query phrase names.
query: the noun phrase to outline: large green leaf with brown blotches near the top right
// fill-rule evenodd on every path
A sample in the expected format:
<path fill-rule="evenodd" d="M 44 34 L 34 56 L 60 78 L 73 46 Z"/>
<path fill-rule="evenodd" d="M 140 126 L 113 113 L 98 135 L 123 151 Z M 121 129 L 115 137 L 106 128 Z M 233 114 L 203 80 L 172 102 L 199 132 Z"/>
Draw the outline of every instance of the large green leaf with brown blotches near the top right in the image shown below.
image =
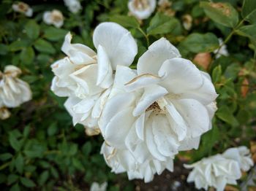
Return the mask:
<path fill-rule="evenodd" d="M 229 3 L 213 3 L 201 1 L 200 7 L 206 15 L 223 26 L 234 28 L 238 23 L 238 12 Z"/>

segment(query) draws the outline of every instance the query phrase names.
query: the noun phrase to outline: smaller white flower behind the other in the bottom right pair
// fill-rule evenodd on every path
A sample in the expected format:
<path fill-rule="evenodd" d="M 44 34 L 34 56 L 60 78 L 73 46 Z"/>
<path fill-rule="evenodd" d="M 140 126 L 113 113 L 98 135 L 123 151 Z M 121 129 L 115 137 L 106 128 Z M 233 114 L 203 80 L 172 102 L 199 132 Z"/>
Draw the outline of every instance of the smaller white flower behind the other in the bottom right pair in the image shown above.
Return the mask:
<path fill-rule="evenodd" d="M 227 159 L 236 160 L 242 171 L 249 171 L 249 169 L 253 166 L 253 160 L 249 149 L 244 146 L 227 149 L 225 152 L 223 152 L 222 156 L 226 157 Z"/>

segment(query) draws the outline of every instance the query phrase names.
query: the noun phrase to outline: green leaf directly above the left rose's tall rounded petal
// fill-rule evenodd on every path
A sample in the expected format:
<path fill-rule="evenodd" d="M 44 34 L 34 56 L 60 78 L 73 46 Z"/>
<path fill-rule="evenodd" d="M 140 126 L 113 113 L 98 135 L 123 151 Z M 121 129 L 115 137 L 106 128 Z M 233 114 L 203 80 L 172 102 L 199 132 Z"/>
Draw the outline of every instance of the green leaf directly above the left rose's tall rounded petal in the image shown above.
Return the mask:
<path fill-rule="evenodd" d="M 110 21 L 120 24 L 124 27 L 138 28 L 140 23 L 135 17 L 124 16 L 124 15 L 113 15 L 110 16 Z"/>

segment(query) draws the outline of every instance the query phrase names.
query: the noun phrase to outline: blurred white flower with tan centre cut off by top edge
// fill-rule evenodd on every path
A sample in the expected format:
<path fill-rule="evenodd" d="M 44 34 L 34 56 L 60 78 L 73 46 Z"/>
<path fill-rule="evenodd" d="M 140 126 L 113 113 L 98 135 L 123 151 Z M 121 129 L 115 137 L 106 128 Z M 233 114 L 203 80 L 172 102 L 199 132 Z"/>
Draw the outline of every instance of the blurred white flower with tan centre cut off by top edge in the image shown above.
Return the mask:
<path fill-rule="evenodd" d="M 129 12 L 141 20 L 150 17 L 156 5 L 156 0 L 130 0 L 128 2 Z"/>

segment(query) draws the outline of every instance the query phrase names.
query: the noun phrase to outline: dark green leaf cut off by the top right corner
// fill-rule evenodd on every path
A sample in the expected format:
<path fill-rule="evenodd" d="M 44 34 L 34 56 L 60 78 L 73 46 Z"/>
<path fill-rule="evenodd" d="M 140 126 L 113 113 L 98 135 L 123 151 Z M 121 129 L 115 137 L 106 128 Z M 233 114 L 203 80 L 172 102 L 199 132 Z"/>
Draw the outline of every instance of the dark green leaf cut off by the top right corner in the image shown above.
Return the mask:
<path fill-rule="evenodd" d="M 255 0 L 244 0 L 242 17 L 250 23 L 256 23 L 256 2 Z"/>

